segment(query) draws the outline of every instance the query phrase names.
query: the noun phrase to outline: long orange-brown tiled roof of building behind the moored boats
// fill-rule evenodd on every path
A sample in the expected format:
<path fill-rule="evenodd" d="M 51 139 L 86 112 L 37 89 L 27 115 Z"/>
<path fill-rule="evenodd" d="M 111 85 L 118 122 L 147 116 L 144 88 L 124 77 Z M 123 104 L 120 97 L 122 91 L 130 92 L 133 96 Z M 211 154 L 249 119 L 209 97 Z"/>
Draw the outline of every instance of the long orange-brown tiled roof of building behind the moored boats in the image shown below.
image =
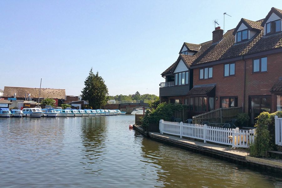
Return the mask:
<path fill-rule="evenodd" d="M 31 98 L 38 98 L 39 88 L 5 86 L 3 97 L 13 97 L 14 93 L 18 98 L 24 98 L 25 94 L 30 94 Z M 41 88 L 40 98 L 65 99 L 65 89 Z"/>

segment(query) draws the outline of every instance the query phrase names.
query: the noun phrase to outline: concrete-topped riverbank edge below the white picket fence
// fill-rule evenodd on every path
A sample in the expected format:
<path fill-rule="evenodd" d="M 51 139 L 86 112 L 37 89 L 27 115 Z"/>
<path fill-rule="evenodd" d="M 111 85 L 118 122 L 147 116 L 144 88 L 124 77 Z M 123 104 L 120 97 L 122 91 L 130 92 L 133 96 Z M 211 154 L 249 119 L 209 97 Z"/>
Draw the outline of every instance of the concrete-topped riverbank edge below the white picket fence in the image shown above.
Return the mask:
<path fill-rule="evenodd" d="M 177 136 L 161 134 L 158 132 L 145 132 L 143 128 L 138 125 L 133 125 L 133 128 L 153 140 L 172 144 L 174 146 L 184 148 L 190 151 L 198 152 L 201 154 L 227 160 L 241 165 L 258 167 L 260 169 L 266 168 L 271 170 L 282 171 L 282 163 L 250 157 L 248 156 L 247 149 L 231 149 L 228 146 L 203 143 L 192 139 L 179 138 Z"/>

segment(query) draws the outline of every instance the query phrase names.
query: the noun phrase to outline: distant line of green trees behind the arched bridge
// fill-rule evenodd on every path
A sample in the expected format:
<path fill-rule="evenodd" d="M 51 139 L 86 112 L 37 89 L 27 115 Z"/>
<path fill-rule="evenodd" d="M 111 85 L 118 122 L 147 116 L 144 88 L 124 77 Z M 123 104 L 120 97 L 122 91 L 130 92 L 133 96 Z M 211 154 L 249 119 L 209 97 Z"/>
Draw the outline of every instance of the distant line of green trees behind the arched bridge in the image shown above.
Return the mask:
<path fill-rule="evenodd" d="M 158 99 L 159 97 L 154 94 L 144 94 L 140 95 L 138 91 L 136 91 L 135 94 L 132 95 L 116 95 L 116 96 L 109 96 L 109 100 L 116 100 L 116 101 L 133 101 L 133 100 L 149 100 L 154 101 Z"/>

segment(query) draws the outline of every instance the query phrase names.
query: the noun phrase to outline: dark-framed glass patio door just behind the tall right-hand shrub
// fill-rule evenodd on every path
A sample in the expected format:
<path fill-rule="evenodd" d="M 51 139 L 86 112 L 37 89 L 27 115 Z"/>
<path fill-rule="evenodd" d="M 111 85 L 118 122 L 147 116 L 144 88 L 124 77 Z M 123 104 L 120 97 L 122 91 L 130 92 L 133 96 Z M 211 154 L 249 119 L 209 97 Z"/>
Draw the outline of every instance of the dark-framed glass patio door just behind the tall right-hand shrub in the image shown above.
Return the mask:
<path fill-rule="evenodd" d="M 269 112 L 271 109 L 271 96 L 252 96 L 249 100 L 249 114 L 251 124 L 255 125 L 261 112 Z"/>

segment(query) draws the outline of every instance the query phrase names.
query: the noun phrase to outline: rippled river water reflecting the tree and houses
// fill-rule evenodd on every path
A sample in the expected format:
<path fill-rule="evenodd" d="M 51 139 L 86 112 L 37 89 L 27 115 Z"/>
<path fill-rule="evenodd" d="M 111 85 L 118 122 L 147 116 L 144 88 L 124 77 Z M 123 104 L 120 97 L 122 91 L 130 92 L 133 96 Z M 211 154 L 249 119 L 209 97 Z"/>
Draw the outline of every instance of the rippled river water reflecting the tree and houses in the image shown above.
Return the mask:
<path fill-rule="evenodd" d="M 0 187 L 282 187 L 281 175 L 162 144 L 133 115 L 0 119 Z"/>

